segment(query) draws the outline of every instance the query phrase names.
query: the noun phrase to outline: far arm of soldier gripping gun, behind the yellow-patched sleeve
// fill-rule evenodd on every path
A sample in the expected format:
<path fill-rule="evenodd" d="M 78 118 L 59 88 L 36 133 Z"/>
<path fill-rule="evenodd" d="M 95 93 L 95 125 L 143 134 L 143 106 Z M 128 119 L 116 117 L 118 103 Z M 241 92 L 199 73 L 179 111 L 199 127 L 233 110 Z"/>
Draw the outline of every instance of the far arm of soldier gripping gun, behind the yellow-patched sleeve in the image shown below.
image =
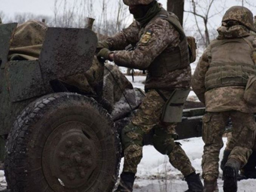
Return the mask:
<path fill-rule="evenodd" d="M 134 21 L 129 27 L 101 42 L 108 44 L 111 51 L 124 50 L 126 46 L 138 42 L 139 30 L 138 24 Z"/>

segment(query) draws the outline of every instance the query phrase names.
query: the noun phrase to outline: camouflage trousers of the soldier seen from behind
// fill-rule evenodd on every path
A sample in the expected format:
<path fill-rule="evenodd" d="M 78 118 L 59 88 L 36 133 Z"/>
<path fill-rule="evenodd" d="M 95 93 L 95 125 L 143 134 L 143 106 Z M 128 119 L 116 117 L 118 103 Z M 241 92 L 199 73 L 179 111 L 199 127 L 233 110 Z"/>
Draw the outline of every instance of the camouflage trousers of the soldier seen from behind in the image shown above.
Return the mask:
<path fill-rule="evenodd" d="M 222 135 L 228 118 L 232 121 L 232 138 L 229 142 L 228 159 L 236 159 L 245 165 L 254 143 L 254 115 L 240 111 L 206 112 L 203 116 L 202 137 L 205 143 L 202 159 L 203 178 L 215 180 L 219 177 L 219 153 L 223 147 Z"/>

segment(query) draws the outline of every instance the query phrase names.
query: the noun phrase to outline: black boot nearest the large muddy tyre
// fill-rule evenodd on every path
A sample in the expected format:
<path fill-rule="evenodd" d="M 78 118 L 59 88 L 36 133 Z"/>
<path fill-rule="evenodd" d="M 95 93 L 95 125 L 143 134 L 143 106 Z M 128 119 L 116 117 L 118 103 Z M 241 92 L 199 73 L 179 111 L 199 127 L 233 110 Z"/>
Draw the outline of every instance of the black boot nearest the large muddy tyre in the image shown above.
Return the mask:
<path fill-rule="evenodd" d="M 120 175 L 120 181 L 115 192 L 132 192 L 135 174 L 130 172 L 123 172 Z"/>

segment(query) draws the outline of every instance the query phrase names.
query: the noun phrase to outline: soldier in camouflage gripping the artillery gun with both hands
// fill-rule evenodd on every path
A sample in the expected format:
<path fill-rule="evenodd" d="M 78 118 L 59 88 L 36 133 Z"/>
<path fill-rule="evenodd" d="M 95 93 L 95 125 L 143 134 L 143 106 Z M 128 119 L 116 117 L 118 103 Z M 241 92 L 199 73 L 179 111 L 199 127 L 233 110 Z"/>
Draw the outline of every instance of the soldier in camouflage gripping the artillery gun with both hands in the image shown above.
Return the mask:
<path fill-rule="evenodd" d="M 203 191 L 199 174 L 182 150 L 176 122 L 160 120 L 162 108 L 175 90 L 188 90 L 191 70 L 187 41 L 178 18 L 155 0 L 123 0 L 135 21 L 120 33 L 99 42 L 98 56 L 116 65 L 147 70 L 146 96 L 129 125 L 122 130 L 124 166 L 116 192 L 131 192 L 142 158 L 143 135 L 154 129 L 154 147 L 169 157 L 169 162 L 185 176 L 187 191 Z M 124 48 L 132 44 L 132 51 Z M 121 50 L 121 51 L 114 51 Z M 187 95 L 186 95 L 187 96 Z M 182 101 L 184 102 L 184 100 Z M 181 108 L 179 103 L 176 108 Z M 180 118 L 180 117 L 179 117 Z"/>

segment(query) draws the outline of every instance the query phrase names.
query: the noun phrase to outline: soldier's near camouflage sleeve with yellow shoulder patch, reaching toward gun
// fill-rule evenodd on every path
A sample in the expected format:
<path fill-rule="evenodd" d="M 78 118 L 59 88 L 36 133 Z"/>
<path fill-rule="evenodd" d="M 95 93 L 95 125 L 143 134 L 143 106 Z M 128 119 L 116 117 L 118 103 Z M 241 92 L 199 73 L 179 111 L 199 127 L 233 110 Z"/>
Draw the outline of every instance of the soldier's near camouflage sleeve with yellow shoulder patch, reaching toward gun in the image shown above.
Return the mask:
<path fill-rule="evenodd" d="M 115 51 L 113 59 L 118 66 L 144 70 L 167 46 L 177 46 L 179 37 L 179 32 L 167 20 L 157 18 L 146 27 L 133 51 Z"/>

